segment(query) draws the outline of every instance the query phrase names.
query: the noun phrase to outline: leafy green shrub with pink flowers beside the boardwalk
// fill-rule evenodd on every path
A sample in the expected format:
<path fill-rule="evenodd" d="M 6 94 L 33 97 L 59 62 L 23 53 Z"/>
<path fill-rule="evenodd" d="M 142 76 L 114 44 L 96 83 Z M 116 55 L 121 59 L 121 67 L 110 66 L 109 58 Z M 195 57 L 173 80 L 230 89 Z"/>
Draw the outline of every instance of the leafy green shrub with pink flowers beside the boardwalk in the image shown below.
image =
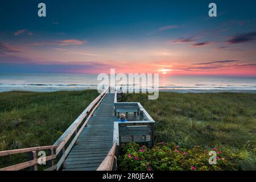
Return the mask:
<path fill-rule="evenodd" d="M 216 151 L 217 164 L 210 165 L 209 151 Z M 121 144 L 119 147 L 118 168 L 121 170 L 234 170 L 234 155 L 225 154 L 217 147 L 203 150 L 199 146 L 189 149 L 172 143 L 158 143 L 152 148 L 136 143 Z"/>

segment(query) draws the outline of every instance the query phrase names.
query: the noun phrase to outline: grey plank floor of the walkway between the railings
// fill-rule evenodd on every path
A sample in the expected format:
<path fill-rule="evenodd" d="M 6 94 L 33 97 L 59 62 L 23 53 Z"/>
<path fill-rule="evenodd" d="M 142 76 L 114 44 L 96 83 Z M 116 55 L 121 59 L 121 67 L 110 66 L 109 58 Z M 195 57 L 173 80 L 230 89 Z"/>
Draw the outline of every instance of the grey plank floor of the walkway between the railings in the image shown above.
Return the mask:
<path fill-rule="evenodd" d="M 96 170 L 113 146 L 114 96 L 106 94 L 65 160 L 65 171 Z"/>

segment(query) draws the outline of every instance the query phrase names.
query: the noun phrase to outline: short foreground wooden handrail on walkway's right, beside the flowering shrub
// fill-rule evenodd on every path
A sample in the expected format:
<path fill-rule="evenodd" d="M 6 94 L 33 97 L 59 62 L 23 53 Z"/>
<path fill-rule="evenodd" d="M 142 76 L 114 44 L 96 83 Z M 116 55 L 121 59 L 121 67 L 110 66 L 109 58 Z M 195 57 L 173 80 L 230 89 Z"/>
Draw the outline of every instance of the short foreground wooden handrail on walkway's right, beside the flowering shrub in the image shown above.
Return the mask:
<path fill-rule="evenodd" d="M 108 155 L 102 161 L 100 166 L 97 168 L 97 171 L 112 171 L 116 150 L 117 150 L 117 143 L 114 142 L 114 144 L 113 144 L 112 148 L 110 149 Z"/>

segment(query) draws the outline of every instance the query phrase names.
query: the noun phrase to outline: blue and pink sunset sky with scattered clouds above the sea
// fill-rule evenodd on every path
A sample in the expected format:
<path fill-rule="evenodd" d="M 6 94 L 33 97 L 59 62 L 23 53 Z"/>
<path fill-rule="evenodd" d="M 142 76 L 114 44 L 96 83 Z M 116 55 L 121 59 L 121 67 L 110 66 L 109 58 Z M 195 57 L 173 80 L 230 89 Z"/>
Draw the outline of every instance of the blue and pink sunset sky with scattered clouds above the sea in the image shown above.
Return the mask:
<path fill-rule="evenodd" d="M 208 16 L 210 2 L 217 17 Z M 256 76 L 255 7 L 256 1 L 1 1 L 0 73 L 115 68 Z"/>

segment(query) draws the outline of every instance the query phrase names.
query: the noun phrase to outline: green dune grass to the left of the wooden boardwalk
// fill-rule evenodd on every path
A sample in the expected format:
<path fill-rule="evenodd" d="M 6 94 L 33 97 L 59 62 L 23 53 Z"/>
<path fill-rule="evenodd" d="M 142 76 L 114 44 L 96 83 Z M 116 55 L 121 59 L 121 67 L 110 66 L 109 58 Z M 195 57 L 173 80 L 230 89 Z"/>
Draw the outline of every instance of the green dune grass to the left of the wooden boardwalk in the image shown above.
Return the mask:
<path fill-rule="evenodd" d="M 97 90 L 0 93 L 0 151 L 53 144 L 97 96 Z M 23 159 L 1 160 L 0 167 Z"/>

